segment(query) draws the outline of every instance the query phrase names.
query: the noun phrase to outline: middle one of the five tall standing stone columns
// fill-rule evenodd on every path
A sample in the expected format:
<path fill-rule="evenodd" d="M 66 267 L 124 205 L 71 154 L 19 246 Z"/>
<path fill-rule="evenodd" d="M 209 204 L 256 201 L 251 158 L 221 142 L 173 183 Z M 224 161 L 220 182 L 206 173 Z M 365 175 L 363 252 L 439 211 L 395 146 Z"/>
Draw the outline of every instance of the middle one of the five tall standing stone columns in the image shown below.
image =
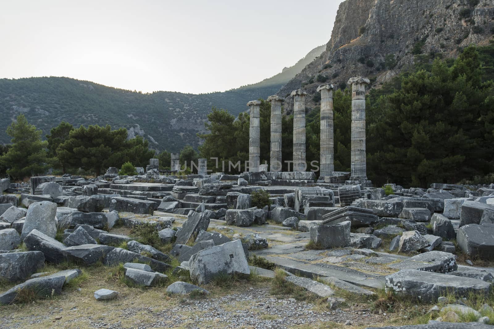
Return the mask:
<path fill-rule="evenodd" d="M 306 171 L 305 164 L 305 96 L 303 90 L 294 90 L 293 96 L 293 171 Z"/>

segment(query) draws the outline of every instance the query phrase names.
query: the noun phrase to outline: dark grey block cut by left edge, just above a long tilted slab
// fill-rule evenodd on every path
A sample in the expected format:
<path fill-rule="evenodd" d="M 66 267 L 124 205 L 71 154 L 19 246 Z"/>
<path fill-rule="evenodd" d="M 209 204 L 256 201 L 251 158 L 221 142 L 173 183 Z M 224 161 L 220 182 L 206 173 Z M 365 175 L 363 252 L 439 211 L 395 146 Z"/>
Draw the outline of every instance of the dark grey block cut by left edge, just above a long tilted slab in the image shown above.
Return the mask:
<path fill-rule="evenodd" d="M 43 265 L 41 251 L 0 254 L 0 277 L 10 282 L 24 280 Z"/>

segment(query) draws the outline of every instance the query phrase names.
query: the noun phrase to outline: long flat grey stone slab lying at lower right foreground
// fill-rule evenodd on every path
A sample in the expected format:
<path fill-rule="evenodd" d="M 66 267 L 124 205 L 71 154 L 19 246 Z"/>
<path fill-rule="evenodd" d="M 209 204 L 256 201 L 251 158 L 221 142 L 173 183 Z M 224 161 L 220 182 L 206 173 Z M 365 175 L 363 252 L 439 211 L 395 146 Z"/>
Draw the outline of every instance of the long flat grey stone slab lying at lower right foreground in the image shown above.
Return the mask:
<path fill-rule="evenodd" d="M 416 269 L 403 269 L 386 276 L 386 291 L 425 302 L 435 302 L 447 294 L 459 297 L 466 297 L 469 293 L 487 295 L 490 286 L 490 283 L 478 279 L 435 272 L 424 275 L 423 271 Z"/>

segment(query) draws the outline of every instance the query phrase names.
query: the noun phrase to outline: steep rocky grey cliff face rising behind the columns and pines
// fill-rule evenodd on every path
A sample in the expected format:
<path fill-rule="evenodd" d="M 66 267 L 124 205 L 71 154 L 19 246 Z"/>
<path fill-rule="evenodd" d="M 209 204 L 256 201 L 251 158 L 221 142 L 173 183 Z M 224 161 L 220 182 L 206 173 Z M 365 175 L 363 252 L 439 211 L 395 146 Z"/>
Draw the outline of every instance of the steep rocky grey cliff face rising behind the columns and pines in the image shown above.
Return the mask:
<path fill-rule="evenodd" d="M 376 88 L 417 61 L 456 57 L 458 47 L 488 44 L 493 29 L 493 0 L 346 0 L 326 51 L 279 95 L 303 88 L 313 107 L 311 95 L 324 78 L 343 88 L 362 75 Z M 286 108 L 291 112 L 291 101 Z"/>

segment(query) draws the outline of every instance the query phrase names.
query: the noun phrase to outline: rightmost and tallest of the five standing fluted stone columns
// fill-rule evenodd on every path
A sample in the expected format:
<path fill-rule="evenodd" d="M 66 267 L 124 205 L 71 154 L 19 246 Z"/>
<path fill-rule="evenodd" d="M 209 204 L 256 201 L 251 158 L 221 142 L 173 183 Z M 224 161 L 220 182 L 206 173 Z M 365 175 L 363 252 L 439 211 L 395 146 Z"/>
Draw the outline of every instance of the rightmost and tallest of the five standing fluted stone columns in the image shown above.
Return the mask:
<path fill-rule="evenodd" d="M 350 181 L 367 181 L 366 164 L 366 84 L 368 78 L 356 77 L 347 82 L 352 85 L 352 151 Z"/>

